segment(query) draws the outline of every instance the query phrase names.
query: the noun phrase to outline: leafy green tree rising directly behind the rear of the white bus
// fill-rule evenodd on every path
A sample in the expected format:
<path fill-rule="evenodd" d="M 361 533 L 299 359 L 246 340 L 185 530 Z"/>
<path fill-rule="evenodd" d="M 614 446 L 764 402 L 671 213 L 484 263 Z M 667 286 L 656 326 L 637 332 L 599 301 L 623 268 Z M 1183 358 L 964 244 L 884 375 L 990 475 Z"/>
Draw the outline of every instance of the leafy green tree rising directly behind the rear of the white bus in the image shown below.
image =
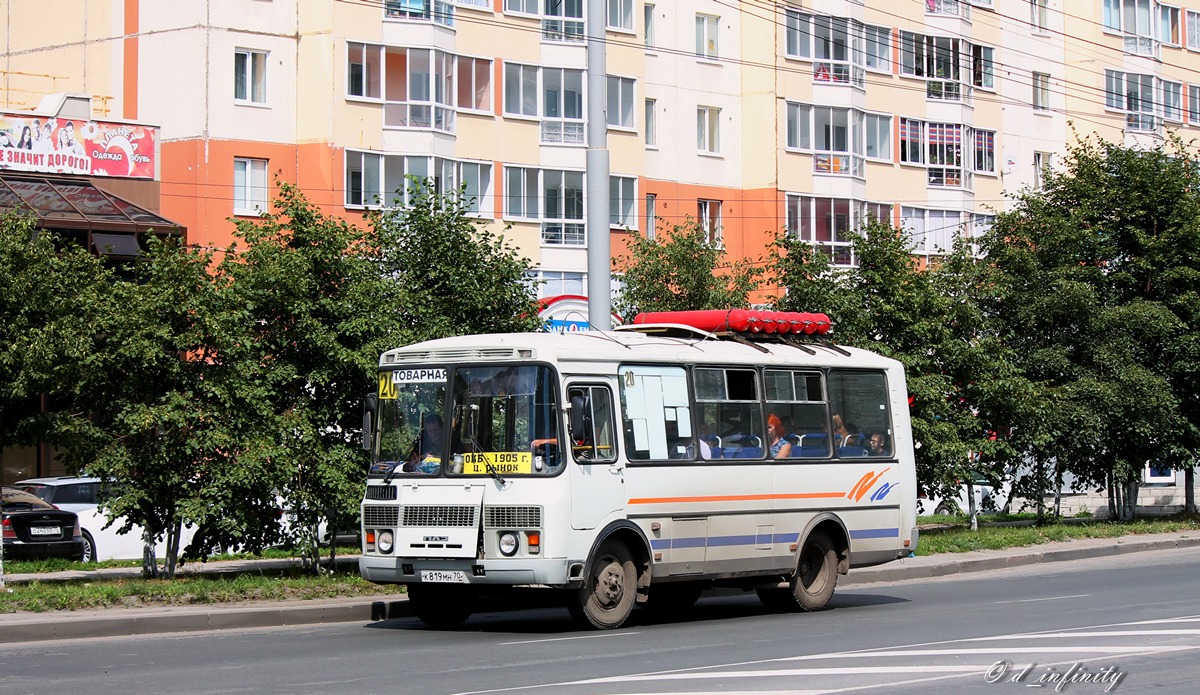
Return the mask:
<path fill-rule="evenodd" d="M 978 403 L 979 384 L 990 383 L 1003 360 L 976 310 L 979 281 L 970 248 L 959 245 L 922 269 L 901 229 L 871 221 L 850 240 L 858 263 L 838 268 L 823 250 L 776 236 L 770 269 L 786 288 L 776 307 L 827 313 L 839 343 L 905 365 L 925 490 L 954 497 L 958 481 L 972 480 L 974 472 L 998 479 L 995 443 Z M 974 525 L 977 510 L 971 511 Z"/>

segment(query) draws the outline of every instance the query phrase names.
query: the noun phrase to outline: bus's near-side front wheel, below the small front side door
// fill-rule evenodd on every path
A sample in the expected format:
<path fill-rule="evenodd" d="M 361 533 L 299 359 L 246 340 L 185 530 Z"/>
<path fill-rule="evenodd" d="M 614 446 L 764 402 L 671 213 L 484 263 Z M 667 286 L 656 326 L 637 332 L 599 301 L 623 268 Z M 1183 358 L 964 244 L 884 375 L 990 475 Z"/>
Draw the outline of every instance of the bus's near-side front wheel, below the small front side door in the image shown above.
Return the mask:
<path fill-rule="evenodd" d="M 576 621 L 612 630 L 629 618 L 636 595 L 634 556 L 624 544 L 610 540 L 592 558 L 583 586 L 571 593 L 566 607 Z"/>

